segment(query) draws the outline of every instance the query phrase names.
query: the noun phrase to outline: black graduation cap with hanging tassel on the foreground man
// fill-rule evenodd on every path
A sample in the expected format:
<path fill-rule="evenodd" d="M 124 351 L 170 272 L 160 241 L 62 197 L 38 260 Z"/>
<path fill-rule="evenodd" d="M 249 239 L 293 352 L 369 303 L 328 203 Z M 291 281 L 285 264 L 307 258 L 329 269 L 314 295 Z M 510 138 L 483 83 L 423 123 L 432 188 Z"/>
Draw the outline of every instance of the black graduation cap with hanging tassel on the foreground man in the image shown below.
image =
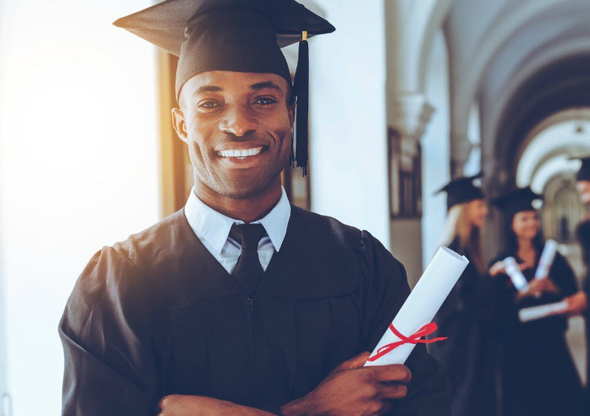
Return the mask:
<path fill-rule="evenodd" d="M 307 38 L 335 31 L 326 19 L 294 0 L 166 0 L 114 24 L 178 56 L 177 99 L 189 78 L 206 71 L 276 73 L 291 85 L 280 48 L 299 42 L 294 160 L 307 173 Z"/>

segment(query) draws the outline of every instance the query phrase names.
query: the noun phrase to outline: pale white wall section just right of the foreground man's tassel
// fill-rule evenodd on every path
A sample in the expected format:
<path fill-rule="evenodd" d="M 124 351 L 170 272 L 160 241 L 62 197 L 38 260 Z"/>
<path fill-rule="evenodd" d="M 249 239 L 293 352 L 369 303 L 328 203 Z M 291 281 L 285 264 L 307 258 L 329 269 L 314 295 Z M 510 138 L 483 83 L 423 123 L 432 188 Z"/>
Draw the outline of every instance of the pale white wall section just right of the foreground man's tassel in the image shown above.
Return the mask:
<path fill-rule="evenodd" d="M 310 40 L 312 209 L 389 246 L 382 0 L 318 0 L 335 33 Z"/>

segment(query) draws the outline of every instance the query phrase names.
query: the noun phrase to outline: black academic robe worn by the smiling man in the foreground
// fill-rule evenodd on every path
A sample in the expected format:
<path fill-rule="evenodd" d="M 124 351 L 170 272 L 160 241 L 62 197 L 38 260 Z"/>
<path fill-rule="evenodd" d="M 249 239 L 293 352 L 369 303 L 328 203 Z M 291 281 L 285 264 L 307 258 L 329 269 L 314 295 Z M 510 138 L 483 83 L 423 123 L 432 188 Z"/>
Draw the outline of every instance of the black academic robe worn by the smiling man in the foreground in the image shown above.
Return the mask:
<path fill-rule="evenodd" d="M 97 252 L 59 324 L 63 415 L 154 415 L 205 395 L 278 412 L 339 363 L 372 351 L 410 288 L 368 232 L 292 207 L 251 298 L 178 211 Z M 418 345 L 394 415 L 448 415 L 444 370 Z"/>

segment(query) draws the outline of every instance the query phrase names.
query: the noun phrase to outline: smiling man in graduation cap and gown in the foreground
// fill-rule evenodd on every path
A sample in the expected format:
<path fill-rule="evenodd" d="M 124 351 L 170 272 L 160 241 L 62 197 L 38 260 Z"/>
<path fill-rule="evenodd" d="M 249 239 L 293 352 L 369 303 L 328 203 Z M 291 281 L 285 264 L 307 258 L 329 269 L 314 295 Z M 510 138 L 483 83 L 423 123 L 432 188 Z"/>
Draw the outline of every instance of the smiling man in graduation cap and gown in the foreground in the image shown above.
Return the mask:
<path fill-rule="evenodd" d="M 307 162 L 305 37 L 334 28 L 292 0 L 169 0 L 115 24 L 180 55 L 173 122 L 194 189 L 76 281 L 62 414 L 448 415 L 423 345 L 362 367 L 410 292 L 401 263 L 280 186 Z M 292 86 L 280 46 L 302 37 Z"/>

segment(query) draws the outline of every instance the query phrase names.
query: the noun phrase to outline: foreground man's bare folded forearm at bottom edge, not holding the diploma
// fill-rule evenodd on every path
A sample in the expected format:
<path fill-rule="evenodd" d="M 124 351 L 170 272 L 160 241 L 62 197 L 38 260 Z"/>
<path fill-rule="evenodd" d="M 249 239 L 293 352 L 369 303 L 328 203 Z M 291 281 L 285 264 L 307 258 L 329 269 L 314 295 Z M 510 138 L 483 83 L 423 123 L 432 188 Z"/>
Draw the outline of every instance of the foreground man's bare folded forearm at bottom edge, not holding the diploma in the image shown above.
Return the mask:
<path fill-rule="evenodd" d="M 205 396 L 170 395 L 160 400 L 158 416 L 271 416 L 272 413 Z"/>

